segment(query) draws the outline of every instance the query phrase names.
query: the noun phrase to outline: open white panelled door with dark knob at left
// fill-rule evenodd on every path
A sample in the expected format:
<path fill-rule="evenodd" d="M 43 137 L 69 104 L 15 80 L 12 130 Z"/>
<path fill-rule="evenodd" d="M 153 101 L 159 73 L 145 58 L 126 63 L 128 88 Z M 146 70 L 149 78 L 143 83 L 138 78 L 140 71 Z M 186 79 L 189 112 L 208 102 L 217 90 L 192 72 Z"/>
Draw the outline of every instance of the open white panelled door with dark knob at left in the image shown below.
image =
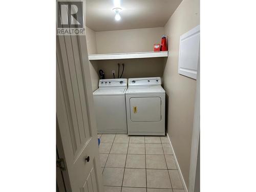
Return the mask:
<path fill-rule="evenodd" d="M 57 123 L 72 192 L 102 192 L 86 36 L 57 36 L 56 44 Z"/>

